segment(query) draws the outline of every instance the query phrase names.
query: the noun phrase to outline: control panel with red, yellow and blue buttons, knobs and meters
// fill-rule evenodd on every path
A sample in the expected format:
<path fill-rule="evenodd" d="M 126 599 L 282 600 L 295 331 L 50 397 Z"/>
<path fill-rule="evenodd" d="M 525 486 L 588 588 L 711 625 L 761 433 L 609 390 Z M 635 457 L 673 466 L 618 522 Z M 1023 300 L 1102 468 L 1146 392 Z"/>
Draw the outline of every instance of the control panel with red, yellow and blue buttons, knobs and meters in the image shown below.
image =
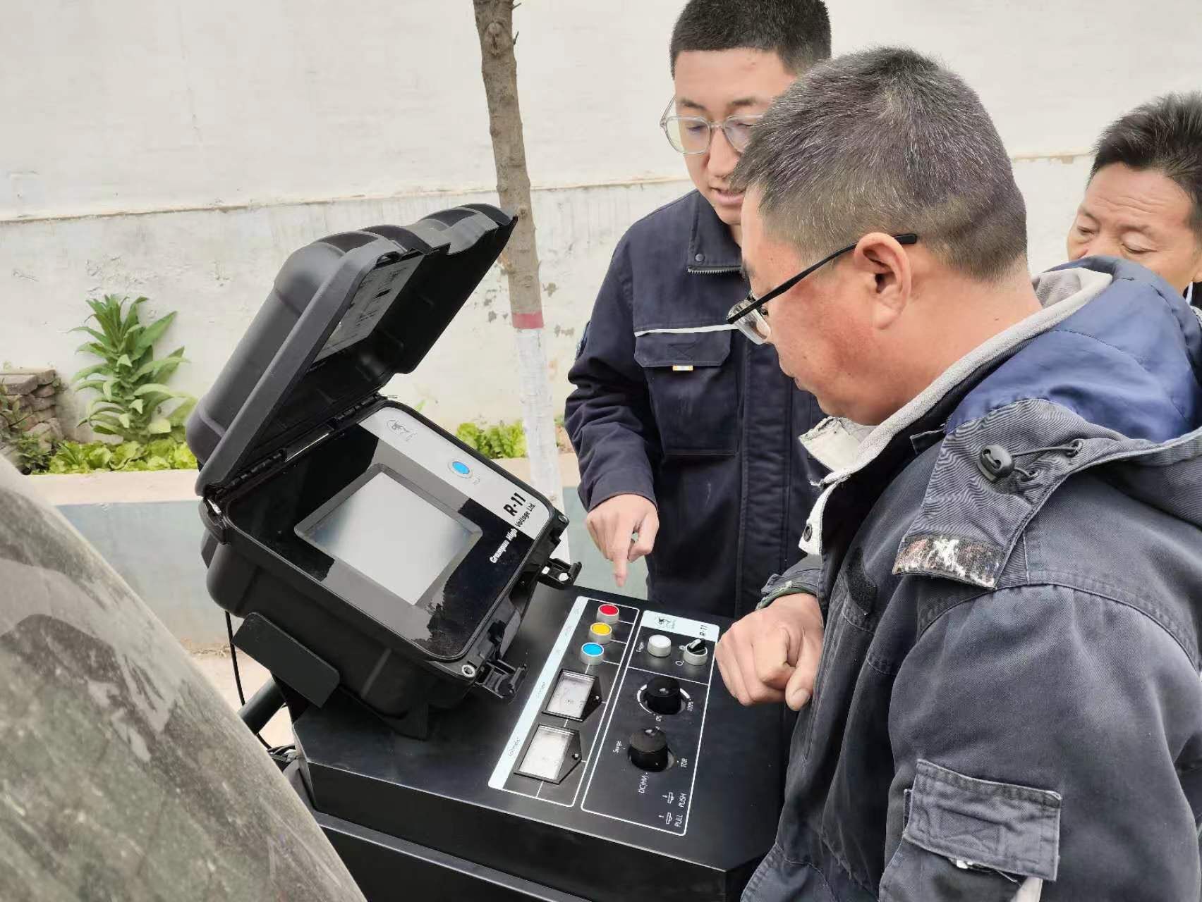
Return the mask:
<path fill-rule="evenodd" d="M 683 836 L 719 627 L 577 597 L 489 787 Z"/>

